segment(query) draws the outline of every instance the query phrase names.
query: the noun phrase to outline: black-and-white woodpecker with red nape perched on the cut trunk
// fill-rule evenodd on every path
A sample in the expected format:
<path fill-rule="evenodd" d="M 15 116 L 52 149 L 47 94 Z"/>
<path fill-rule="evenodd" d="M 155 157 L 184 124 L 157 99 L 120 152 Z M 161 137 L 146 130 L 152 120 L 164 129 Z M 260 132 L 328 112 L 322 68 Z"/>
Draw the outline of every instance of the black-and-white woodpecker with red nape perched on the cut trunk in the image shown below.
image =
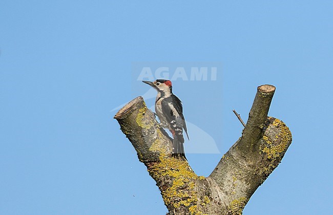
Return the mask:
<path fill-rule="evenodd" d="M 164 128 L 168 128 L 173 135 L 173 156 L 187 160 L 183 145 L 183 129 L 189 140 L 190 138 L 183 115 L 183 106 L 180 99 L 172 93 L 171 81 L 157 79 L 154 82 L 142 82 L 151 85 L 155 90 L 157 90 L 155 111 L 160 120 L 160 125 Z"/>

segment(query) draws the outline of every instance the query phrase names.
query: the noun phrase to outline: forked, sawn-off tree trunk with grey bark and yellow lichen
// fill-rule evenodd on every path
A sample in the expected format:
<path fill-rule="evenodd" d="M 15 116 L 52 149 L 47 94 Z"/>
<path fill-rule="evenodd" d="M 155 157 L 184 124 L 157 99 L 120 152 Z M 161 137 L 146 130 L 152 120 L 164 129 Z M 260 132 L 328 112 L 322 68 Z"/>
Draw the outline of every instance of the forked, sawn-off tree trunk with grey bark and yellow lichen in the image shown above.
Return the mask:
<path fill-rule="evenodd" d="M 242 214 L 292 142 L 289 128 L 267 117 L 274 92 L 273 85 L 258 87 L 242 136 L 207 178 L 172 157 L 172 139 L 142 97 L 126 104 L 114 118 L 156 181 L 169 214 Z"/>

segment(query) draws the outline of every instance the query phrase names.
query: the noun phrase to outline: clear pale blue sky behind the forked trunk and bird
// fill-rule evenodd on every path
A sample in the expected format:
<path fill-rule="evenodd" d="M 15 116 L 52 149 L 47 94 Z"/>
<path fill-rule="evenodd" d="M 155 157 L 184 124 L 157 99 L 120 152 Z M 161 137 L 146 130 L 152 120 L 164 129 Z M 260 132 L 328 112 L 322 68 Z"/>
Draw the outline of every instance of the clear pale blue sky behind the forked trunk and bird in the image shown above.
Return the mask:
<path fill-rule="evenodd" d="M 185 146 L 200 128 L 220 152 L 188 153 L 198 175 L 240 137 L 232 110 L 246 120 L 258 85 L 275 85 L 269 115 L 293 143 L 244 214 L 333 212 L 332 1 L 3 0 L 0 11 L 0 214 L 167 212 L 113 119 L 148 91 L 142 62 L 171 76 L 175 62 L 220 63 L 216 81 L 174 81 L 193 124 Z"/>

